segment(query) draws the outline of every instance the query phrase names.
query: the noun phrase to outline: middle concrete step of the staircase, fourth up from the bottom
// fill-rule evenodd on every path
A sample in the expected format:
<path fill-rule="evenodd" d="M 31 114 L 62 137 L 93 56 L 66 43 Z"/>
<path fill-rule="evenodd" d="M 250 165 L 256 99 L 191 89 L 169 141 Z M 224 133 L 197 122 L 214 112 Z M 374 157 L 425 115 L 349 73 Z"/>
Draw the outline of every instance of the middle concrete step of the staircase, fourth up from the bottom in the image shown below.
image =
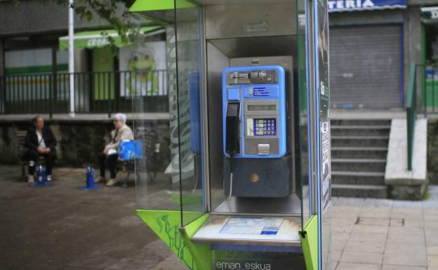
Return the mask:
<path fill-rule="evenodd" d="M 387 147 L 331 147 L 331 158 L 386 158 Z"/>

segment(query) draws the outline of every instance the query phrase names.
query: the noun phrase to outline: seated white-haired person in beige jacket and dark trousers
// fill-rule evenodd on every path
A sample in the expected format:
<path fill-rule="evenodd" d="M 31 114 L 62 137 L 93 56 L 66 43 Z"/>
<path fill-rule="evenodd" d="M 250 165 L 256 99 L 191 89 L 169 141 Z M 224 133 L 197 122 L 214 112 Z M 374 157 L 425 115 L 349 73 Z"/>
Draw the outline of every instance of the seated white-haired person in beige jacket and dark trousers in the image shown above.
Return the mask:
<path fill-rule="evenodd" d="M 111 131 L 111 142 L 105 146 L 103 152 L 99 154 L 99 165 L 100 165 L 100 180 L 105 182 L 105 170 L 108 167 L 110 170 L 110 180 L 107 182 L 107 187 L 114 186 L 117 183 L 116 180 L 116 165 L 117 149 L 119 149 L 120 140 L 133 140 L 134 135 L 128 126 L 126 126 L 126 115 L 116 114 L 114 116 L 114 127 L 115 129 Z"/>

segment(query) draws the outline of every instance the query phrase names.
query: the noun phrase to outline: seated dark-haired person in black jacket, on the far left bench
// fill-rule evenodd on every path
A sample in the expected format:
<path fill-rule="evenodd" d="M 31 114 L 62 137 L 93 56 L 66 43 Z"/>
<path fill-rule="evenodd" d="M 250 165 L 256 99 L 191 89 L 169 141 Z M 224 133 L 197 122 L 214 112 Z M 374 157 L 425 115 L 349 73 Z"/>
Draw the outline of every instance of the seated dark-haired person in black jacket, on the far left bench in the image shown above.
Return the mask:
<path fill-rule="evenodd" d="M 35 166 L 40 156 L 46 159 L 47 181 L 52 180 L 52 168 L 56 159 L 56 139 L 50 128 L 44 126 L 44 119 L 35 116 L 32 127 L 27 130 L 25 137 L 27 159 L 29 160 L 29 175 L 27 182 L 34 182 Z"/>

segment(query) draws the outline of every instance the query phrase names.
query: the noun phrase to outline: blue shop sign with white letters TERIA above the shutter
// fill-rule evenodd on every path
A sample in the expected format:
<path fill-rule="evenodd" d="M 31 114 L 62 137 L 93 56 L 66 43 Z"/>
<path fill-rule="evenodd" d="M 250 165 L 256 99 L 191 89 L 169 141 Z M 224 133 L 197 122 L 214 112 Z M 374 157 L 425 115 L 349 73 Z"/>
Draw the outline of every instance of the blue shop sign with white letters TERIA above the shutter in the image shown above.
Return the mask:
<path fill-rule="evenodd" d="M 406 8 L 407 0 L 328 0 L 328 12 Z"/>

